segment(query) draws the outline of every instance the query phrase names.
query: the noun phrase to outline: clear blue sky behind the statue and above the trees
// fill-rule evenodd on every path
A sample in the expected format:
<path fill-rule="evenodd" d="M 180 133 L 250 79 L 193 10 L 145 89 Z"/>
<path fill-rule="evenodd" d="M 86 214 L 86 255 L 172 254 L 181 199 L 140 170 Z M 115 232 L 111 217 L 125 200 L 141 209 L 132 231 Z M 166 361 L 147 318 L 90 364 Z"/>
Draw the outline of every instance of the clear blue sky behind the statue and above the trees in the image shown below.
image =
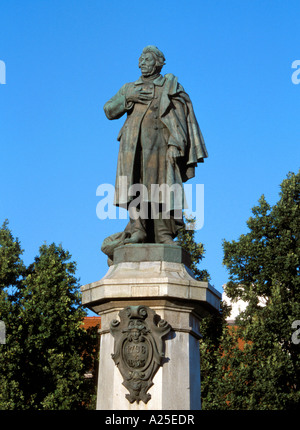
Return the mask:
<path fill-rule="evenodd" d="M 8 218 L 29 264 L 61 243 L 81 284 L 107 271 L 103 239 L 126 221 L 96 216 L 100 184 L 114 184 L 124 119 L 103 105 L 140 73 L 153 44 L 190 95 L 209 158 L 202 267 L 222 291 L 222 239 L 237 239 L 261 194 L 299 169 L 300 3 L 279 0 L 1 1 L 0 222 Z M 300 77 L 300 74 L 299 74 Z"/>

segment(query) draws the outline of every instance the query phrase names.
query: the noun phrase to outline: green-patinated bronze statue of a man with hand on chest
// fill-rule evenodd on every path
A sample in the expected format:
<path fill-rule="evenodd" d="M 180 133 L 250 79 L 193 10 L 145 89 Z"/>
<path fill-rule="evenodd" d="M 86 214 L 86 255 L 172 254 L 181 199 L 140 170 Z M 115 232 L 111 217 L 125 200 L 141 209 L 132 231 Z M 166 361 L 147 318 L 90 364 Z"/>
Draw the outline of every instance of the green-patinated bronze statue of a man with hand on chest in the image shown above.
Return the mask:
<path fill-rule="evenodd" d="M 194 176 L 197 163 L 207 157 L 190 98 L 174 75 L 161 75 L 164 64 L 163 53 L 146 46 L 139 58 L 141 77 L 123 85 L 104 106 L 110 120 L 127 114 L 118 135 L 114 204 L 129 209 L 135 198 L 130 192 L 134 184 L 147 191 L 138 205 L 139 215 L 132 217 L 129 211 L 130 222 L 122 236 L 125 244 L 173 243 L 183 225 L 183 206 L 178 207 L 180 199 L 174 204 L 173 196 L 166 216 L 166 196 L 153 193 L 153 185 L 168 189 L 176 184 L 182 190 L 182 183 Z M 148 211 L 150 206 L 156 207 L 155 217 Z"/>

